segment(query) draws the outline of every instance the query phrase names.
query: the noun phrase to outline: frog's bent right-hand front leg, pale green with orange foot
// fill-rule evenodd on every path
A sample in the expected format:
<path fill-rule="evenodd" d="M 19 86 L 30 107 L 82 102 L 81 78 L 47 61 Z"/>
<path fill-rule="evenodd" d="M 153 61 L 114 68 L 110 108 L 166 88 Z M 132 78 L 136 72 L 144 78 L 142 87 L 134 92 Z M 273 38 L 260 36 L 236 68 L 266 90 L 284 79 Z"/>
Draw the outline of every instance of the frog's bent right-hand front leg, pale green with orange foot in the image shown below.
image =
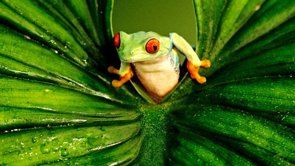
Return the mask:
<path fill-rule="evenodd" d="M 170 33 L 171 47 L 176 47 L 187 58 L 186 67 L 190 72 L 190 77 L 196 79 L 199 83 L 205 83 L 206 78 L 199 75 L 199 67 L 209 68 L 211 62 L 209 60 L 200 61 L 198 55 L 193 48 L 188 44 L 183 37 L 177 33 Z M 171 48 L 170 48 L 171 49 Z"/>

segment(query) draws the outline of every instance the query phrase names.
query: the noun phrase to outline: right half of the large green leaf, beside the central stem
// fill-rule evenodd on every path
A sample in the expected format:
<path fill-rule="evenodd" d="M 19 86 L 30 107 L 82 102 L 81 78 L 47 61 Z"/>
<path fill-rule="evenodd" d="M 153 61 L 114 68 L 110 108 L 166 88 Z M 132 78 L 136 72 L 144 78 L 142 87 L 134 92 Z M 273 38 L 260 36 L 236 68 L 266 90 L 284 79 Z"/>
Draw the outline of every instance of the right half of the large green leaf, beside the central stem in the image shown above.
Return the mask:
<path fill-rule="evenodd" d="M 195 1 L 195 7 L 197 54 L 211 60 L 212 67 L 201 70 L 206 84 L 186 75 L 168 99 L 177 131 L 205 137 L 209 140 L 204 142 L 222 145 L 252 164 L 294 164 L 295 4 Z M 213 157 L 212 148 L 198 151 L 203 150 L 194 149 L 198 141 L 192 144 L 183 132 L 176 135 L 180 143 L 172 144 L 172 163 L 222 162 L 220 152 Z"/>

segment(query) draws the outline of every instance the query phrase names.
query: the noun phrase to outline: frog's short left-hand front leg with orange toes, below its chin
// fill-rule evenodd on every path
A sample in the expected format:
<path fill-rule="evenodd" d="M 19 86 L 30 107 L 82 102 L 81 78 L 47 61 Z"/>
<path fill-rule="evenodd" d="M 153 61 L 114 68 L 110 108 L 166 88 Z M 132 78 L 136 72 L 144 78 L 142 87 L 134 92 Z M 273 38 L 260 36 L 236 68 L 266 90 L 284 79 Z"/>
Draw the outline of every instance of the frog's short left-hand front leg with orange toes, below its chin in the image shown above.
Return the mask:
<path fill-rule="evenodd" d="M 120 70 L 116 69 L 113 66 L 110 66 L 108 68 L 108 72 L 112 74 L 118 74 L 120 76 L 120 80 L 113 80 L 112 86 L 115 88 L 118 88 L 122 86 L 125 82 L 131 79 L 131 77 L 134 75 L 131 69 L 130 63 L 121 62 Z"/>

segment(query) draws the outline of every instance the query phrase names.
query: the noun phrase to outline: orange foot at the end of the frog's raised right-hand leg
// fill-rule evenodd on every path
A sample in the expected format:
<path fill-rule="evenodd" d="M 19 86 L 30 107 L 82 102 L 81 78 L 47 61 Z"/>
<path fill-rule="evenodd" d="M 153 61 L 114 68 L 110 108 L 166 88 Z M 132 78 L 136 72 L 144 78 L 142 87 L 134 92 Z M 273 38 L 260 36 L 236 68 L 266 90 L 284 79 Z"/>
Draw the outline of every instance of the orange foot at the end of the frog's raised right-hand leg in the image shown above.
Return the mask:
<path fill-rule="evenodd" d="M 211 62 L 209 60 L 202 60 L 201 61 L 200 67 L 209 68 L 210 66 L 211 66 Z M 199 71 L 198 71 L 199 67 L 198 66 L 195 66 L 190 61 L 187 61 L 186 67 L 189 70 L 190 77 L 192 79 L 196 79 L 198 81 L 198 83 L 200 83 L 200 84 L 203 84 L 206 82 L 206 78 L 199 75 Z"/>

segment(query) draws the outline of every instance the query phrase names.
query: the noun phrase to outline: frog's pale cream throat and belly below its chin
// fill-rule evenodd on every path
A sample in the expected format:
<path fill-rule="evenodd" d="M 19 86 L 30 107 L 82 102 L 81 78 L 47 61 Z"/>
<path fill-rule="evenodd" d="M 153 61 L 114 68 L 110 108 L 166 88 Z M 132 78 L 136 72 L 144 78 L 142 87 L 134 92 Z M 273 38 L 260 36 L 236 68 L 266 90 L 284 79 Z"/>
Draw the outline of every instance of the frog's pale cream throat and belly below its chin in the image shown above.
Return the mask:
<path fill-rule="evenodd" d="M 133 65 L 148 95 L 156 102 L 162 100 L 178 83 L 179 72 L 172 67 L 167 55 L 134 62 Z"/>

